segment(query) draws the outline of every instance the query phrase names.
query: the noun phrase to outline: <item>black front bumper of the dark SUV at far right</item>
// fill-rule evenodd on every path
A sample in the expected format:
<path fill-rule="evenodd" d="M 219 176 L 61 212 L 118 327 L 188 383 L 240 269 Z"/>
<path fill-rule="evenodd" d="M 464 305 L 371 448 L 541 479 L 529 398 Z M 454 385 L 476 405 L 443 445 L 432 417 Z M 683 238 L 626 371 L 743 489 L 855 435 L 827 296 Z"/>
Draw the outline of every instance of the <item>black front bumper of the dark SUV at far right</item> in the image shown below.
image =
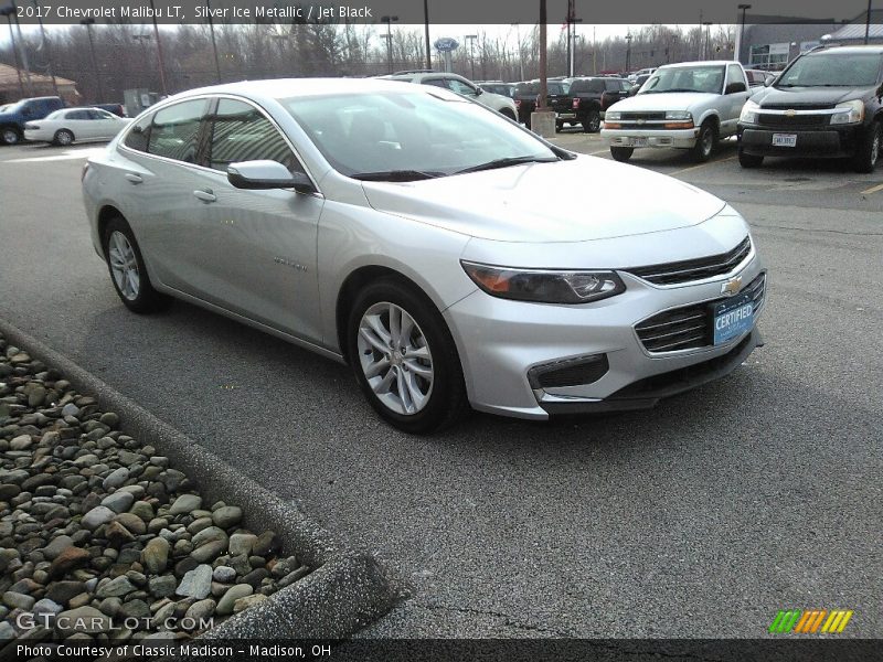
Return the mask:
<path fill-rule="evenodd" d="M 770 128 L 738 125 L 738 145 L 743 152 L 757 157 L 815 157 L 839 159 L 851 157 L 860 145 L 864 128 L 861 125 L 842 127 Z M 797 136 L 795 147 L 774 147 L 773 135 Z"/>

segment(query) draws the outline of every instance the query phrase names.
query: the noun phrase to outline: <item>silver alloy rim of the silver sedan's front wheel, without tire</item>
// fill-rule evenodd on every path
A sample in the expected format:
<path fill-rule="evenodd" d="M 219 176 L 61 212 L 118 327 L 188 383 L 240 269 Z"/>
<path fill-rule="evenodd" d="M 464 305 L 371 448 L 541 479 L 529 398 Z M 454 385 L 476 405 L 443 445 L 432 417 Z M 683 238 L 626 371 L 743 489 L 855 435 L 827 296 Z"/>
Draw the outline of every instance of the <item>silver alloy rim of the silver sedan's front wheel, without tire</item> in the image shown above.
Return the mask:
<path fill-rule="evenodd" d="M 359 322 L 359 361 L 369 386 L 390 410 L 414 415 L 433 392 L 433 354 L 419 324 L 402 307 L 380 301 Z"/>

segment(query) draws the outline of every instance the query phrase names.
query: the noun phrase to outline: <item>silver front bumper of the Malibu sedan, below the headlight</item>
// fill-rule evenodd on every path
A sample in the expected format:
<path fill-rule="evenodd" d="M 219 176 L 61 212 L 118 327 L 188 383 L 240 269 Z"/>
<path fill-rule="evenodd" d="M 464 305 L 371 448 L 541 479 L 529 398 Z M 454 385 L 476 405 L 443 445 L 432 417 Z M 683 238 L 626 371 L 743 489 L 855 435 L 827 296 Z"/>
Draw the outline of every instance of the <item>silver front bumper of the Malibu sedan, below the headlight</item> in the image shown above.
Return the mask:
<path fill-rule="evenodd" d="M 735 275 L 748 284 L 763 271 L 753 253 Z M 482 412 L 545 419 L 652 407 L 662 397 L 719 378 L 760 344 L 756 325 L 721 345 L 661 353 L 648 352 L 635 327 L 669 309 L 720 300 L 722 282 L 735 275 L 660 287 L 620 273 L 626 292 L 585 306 L 511 301 L 476 291 L 445 311 L 469 401 Z M 595 355 L 605 356 L 607 370 L 592 383 L 538 387 L 534 380 L 531 385 L 532 369 Z"/>

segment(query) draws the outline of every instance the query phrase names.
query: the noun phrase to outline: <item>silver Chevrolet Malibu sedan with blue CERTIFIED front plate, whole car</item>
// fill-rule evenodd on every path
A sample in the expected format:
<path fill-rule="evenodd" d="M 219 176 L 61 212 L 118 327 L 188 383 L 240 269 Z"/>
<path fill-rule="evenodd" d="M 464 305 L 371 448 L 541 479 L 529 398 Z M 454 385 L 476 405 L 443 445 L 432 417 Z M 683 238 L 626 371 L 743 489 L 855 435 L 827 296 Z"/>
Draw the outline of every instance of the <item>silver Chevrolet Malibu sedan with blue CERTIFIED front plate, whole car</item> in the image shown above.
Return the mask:
<path fill-rule="evenodd" d="M 409 433 L 469 405 L 650 407 L 760 344 L 766 271 L 736 211 L 440 88 L 191 90 L 93 157 L 83 190 L 130 310 L 175 297 L 348 362 Z"/>

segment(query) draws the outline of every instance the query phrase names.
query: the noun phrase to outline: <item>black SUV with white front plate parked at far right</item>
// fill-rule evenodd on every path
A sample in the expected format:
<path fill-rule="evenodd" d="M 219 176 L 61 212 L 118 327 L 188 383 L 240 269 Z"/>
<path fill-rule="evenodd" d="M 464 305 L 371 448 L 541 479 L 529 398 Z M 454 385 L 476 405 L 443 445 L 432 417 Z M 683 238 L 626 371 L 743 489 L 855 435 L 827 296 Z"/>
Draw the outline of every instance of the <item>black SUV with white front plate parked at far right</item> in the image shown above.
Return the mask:
<path fill-rule="evenodd" d="M 883 151 L 883 46 L 817 49 L 751 97 L 738 120 L 738 161 L 851 158 L 872 172 Z"/>

